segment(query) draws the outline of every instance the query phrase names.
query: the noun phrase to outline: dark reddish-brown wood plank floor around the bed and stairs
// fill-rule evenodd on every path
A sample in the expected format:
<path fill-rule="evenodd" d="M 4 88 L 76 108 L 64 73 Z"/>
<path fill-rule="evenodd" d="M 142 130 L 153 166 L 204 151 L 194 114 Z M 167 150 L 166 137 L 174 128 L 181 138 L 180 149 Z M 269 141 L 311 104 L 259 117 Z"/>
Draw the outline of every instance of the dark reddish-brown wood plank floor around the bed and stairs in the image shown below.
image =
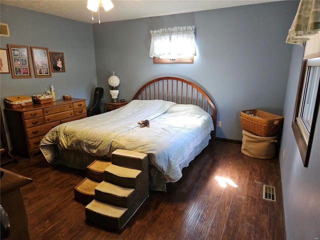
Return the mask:
<path fill-rule="evenodd" d="M 33 179 L 22 187 L 31 239 L 285 239 L 278 158 L 251 158 L 240 148 L 210 142 L 167 192 L 150 191 L 122 230 L 86 222 L 85 206 L 73 196 L 85 171 L 50 165 L 41 155 L 2 167 Z M 221 187 L 215 176 L 237 187 Z M 275 186 L 276 202 L 262 199 L 263 184 Z"/>

